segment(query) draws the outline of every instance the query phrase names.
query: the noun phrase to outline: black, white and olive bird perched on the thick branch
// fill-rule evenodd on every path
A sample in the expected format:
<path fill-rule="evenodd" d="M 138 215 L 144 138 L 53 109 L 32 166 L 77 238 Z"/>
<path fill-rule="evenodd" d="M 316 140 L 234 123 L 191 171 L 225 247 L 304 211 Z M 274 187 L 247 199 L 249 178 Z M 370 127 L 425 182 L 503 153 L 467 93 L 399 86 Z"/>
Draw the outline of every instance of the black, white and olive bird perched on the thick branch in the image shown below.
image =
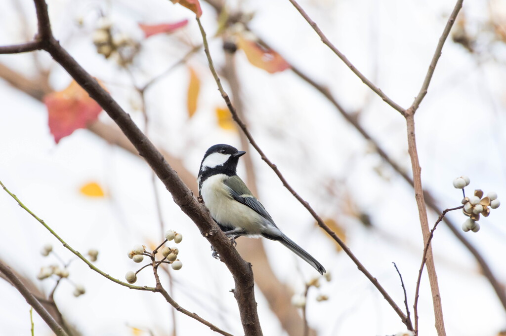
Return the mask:
<path fill-rule="evenodd" d="M 237 175 L 239 158 L 246 154 L 235 147 L 211 146 L 204 154 L 198 172 L 199 196 L 210 215 L 228 237 L 260 237 L 280 242 L 313 266 L 320 274 L 325 268 L 277 227 L 262 203 Z"/>

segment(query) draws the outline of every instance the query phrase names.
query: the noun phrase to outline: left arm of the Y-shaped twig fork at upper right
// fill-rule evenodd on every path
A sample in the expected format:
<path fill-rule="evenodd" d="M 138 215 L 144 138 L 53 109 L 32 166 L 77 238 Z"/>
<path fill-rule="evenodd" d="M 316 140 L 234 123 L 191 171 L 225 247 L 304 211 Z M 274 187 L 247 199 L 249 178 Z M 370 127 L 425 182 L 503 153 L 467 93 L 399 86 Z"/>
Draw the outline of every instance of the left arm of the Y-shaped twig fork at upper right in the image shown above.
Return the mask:
<path fill-rule="evenodd" d="M 365 77 L 347 58 L 346 56 L 341 53 L 329 40 L 328 38 L 325 36 L 325 34 L 321 31 L 321 29 L 318 27 L 318 25 L 316 24 L 316 22 L 314 22 L 310 17 L 309 15 L 304 11 L 304 9 L 297 3 L 297 1 L 295 0 L 289 0 L 289 2 L 293 5 L 293 7 L 295 7 L 299 13 L 301 13 L 301 15 L 304 17 L 304 19 L 306 19 L 306 21 L 309 23 L 309 25 L 313 28 L 313 30 L 318 34 L 318 36 L 320 36 L 321 38 L 321 41 L 323 43 L 325 43 L 329 48 L 330 50 L 332 50 L 334 52 L 335 55 L 337 55 L 347 66 L 348 68 L 350 68 L 351 71 L 353 71 L 353 73 L 355 75 L 358 76 L 358 78 L 360 78 L 362 80 L 362 82 L 369 86 L 369 88 L 371 90 L 373 90 L 374 92 L 376 92 L 377 95 L 379 95 L 379 97 L 381 97 L 381 99 L 383 99 L 385 101 L 385 103 L 387 103 L 388 105 L 390 105 L 391 107 L 393 107 L 395 110 L 399 111 L 400 114 L 404 115 L 405 113 L 405 110 L 400 106 L 398 105 L 397 103 L 395 103 L 392 99 L 390 99 L 379 87 L 377 87 L 376 85 L 374 85 L 369 79 L 367 79 L 367 77 Z"/>

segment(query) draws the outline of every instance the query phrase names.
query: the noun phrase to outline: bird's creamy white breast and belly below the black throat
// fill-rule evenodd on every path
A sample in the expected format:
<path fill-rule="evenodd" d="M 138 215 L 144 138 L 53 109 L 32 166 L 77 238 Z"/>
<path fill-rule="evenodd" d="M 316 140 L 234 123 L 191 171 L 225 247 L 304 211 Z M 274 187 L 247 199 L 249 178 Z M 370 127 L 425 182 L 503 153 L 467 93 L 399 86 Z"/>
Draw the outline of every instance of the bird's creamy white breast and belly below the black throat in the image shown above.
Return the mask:
<path fill-rule="evenodd" d="M 200 190 L 211 216 L 224 227 L 240 227 L 248 235 L 260 235 L 266 228 L 265 218 L 230 196 L 223 187 L 224 176 L 209 177 Z"/>

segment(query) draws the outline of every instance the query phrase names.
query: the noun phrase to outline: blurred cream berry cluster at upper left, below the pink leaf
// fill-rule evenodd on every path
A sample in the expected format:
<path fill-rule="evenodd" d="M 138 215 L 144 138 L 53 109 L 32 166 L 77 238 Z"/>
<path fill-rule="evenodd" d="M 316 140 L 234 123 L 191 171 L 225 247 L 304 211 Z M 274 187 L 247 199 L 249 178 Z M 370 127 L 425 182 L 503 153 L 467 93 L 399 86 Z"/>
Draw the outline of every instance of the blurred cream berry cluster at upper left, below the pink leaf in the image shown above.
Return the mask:
<path fill-rule="evenodd" d="M 97 53 L 106 59 L 113 58 L 120 66 L 132 63 L 140 49 L 140 44 L 129 35 L 114 32 L 111 21 L 106 17 L 99 19 L 93 32 L 93 43 Z"/>

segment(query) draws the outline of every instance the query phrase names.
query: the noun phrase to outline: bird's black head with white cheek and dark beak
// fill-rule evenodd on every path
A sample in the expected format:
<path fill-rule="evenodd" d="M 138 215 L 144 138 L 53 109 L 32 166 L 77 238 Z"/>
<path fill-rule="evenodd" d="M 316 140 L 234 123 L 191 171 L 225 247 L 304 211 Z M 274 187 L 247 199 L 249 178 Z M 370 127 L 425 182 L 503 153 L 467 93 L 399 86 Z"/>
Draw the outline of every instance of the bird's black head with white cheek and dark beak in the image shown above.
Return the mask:
<path fill-rule="evenodd" d="M 202 182 L 209 176 L 216 174 L 225 174 L 228 176 L 235 175 L 239 157 L 245 153 L 246 152 L 238 151 L 237 148 L 224 145 L 223 143 L 209 147 L 204 154 L 198 172 L 199 189 Z"/>

